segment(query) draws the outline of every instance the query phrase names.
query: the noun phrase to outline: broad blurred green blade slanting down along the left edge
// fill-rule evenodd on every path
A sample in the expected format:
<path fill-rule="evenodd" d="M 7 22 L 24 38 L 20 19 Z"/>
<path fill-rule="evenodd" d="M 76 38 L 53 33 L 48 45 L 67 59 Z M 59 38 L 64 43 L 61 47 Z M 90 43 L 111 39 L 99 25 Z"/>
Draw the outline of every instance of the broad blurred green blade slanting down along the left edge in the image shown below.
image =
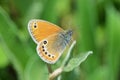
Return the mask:
<path fill-rule="evenodd" d="M 18 79 L 24 80 L 24 68 L 33 51 L 29 44 L 20 39 L 17 27 L 7 12 L 0 7 L 0 45 L 17 71 Z"/>

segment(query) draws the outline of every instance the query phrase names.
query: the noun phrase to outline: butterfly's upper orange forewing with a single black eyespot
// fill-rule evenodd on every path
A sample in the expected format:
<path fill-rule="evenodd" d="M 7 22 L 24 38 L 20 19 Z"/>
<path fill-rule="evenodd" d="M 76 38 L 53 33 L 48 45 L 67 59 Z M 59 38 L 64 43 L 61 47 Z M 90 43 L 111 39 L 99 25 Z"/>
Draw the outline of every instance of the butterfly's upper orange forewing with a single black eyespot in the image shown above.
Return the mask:
<path fill-rule="evenodd" d="M 63 29 L 61 29 L 57 25 L 54 25 L 44 20 L 37 19 L 29 21 L 28 30 L 35 43 L 38 43 L 39 41 L 52 34 L 63 31 Z"/>

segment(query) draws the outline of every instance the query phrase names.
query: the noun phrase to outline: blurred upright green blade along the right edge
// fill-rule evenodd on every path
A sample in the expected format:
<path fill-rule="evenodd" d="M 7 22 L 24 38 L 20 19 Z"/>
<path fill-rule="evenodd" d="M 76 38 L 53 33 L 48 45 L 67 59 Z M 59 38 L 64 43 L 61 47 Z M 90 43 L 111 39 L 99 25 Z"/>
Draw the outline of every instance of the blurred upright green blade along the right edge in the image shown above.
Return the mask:
<path fill-rule="evenodd" d="M 110 4 L 106 7 L 106 14 L 108 80 L 117 80 L 120 67 L 120 13 Z"/>

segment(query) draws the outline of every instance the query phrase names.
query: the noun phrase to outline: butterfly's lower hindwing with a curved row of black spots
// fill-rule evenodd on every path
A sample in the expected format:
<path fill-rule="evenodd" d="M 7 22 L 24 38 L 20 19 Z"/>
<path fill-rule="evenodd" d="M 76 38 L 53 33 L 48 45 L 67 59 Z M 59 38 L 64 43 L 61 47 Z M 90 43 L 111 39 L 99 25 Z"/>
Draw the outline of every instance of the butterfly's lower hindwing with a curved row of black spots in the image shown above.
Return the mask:
<path fill-rule="evenodd" d="M 41 59 L 49 64 L 54 64 L 66 48 L 66 41 L 59 33 L 53 34 L 39 42 L 37 53 Z"/>

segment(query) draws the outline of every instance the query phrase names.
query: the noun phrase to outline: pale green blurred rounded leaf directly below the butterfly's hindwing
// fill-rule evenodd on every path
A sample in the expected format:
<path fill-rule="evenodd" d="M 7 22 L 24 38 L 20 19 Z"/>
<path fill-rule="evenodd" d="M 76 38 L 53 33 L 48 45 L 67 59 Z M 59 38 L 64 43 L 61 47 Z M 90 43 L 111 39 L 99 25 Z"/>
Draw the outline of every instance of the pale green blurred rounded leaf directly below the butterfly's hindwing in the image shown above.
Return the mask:
<path fill-rule="evenodd" d="M 24 72 L 24 80 L 48 80 L 49 74 L 47 67 L 37 55 L 33 55 L 33 57 L 28 60 Z"/>

